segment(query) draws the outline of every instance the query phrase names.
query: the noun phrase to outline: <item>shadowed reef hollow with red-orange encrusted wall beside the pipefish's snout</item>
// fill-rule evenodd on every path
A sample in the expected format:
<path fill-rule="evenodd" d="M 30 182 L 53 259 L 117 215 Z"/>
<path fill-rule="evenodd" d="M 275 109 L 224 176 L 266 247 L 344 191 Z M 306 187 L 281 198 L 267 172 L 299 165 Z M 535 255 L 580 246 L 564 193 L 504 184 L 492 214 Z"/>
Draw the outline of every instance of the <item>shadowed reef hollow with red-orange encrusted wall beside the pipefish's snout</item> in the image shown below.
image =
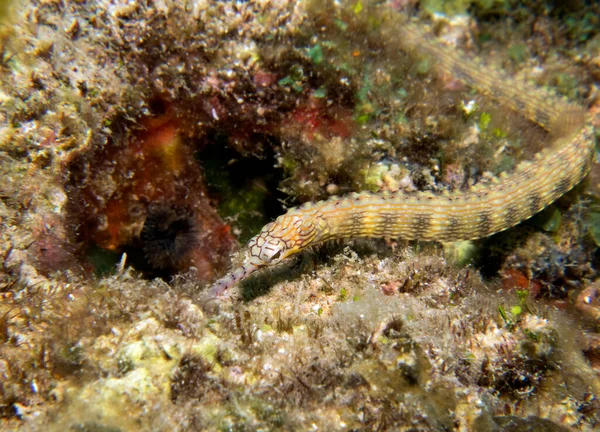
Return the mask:
<path fill-rule="evenodd" d="M 151 106 L 134 125 L 115 120 L 108 143 L 67 166 L 71 239 L 88 274 L 114 272 L 126 253 L 146 277 L 194 269 L 209 283 L 236 238 L 244 243 L 283 212 L 277 143 L 251 137 L 266 150 L 242 156 L 222 130 L 188 138 L 169 104 Z"/>

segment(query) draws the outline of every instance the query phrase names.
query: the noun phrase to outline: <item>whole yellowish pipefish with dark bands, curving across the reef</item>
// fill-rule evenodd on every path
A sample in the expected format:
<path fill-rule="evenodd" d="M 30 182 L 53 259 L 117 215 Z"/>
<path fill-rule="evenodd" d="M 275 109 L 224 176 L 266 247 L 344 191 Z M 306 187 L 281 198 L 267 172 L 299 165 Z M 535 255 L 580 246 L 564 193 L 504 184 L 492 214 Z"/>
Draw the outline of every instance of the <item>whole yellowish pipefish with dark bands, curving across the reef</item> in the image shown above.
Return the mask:
<path fill-rule="evenodd" d="M 414 24 L 403 25 L 395 37 L 402 49 L 431 56 L 438 71 L 550 132 L 548 148 L 491 186 L 445 194 L 363 192 L 292 208 L 249 241 L 242 265 L 218 280 L 211 295 L 218 296 L 254 271 L 328 240 L 385 237 L 451 242 L 487 237 L 530 218 L 587 175 L 595 143 L 582 107 L 465 59 L 432 41 Z"/>

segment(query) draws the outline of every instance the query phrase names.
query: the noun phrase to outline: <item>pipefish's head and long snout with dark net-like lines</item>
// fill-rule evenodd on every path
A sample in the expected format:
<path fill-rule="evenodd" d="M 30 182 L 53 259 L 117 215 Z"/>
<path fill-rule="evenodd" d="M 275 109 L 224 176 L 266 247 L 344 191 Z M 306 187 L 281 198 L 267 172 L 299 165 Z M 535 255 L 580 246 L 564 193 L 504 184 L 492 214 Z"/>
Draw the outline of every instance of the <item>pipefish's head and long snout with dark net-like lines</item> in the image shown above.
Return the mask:
<path fill-rule="evenodd" d="M 243 264 L 219 279 L 210 293 L 218 296 L 256 270 L 278 264 L 298 253 L 313 242 L 316 227 L 312 216 L 293 214 L 293 211 L 279 216 L 250 239 Z"/>

